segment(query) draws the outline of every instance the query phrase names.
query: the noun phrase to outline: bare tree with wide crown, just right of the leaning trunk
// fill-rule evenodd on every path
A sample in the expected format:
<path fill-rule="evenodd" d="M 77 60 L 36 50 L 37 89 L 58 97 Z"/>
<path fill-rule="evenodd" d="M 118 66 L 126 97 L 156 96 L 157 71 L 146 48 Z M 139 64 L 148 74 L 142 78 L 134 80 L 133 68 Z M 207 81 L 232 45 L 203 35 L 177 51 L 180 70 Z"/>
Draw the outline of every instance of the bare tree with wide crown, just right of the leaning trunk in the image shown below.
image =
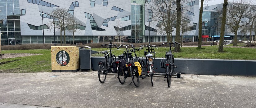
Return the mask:
<path fill-rule="evenodd" d="M 236 0 L 229 3 L 227 6 L 227 21 L 226 24 L 230 26 L 235 32 L 235 39 L 233 46 L 237 45 L 237 31 L 240 27 L 250 23 L 246 17 L 250 15 L 251 0 Z"/>

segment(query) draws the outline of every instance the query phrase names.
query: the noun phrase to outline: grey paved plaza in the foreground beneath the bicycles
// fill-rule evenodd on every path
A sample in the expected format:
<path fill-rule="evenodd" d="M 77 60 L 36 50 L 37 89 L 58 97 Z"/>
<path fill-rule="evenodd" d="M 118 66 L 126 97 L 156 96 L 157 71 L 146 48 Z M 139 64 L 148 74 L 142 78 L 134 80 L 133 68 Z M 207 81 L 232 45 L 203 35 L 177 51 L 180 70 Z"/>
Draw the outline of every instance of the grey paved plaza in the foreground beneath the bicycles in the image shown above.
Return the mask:
<path fill-rule="evenodd" d="M 0 108 L 255 108 L 256 77 L 182 74 L 140 79 L 122 85 L 115 75 L 105 83 L 97 72 L 0 73 Z"/>

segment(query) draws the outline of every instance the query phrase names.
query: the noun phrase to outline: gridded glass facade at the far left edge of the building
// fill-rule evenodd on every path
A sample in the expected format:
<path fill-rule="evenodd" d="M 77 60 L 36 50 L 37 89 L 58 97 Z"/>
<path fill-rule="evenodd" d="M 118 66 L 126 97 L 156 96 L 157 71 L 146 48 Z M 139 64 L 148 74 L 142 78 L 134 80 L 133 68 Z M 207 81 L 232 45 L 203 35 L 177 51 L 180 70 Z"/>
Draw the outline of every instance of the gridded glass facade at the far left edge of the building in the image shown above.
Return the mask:
<path fill-rule="evenodd" d="M 1 44 L 22 44 L 19 0 L 0 0 Z"/>

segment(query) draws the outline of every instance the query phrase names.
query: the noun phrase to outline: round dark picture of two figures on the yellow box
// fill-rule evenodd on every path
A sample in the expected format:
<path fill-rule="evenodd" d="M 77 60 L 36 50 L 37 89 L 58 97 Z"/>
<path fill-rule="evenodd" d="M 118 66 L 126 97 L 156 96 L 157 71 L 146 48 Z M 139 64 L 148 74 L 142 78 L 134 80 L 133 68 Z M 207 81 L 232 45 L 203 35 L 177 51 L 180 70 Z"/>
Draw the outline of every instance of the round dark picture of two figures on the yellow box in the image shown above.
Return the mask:
<path fill-rule="evenodd" d="M 68 65 L 69 60 L 70 60 L 69 54 L 64 50 L 61 50 L 56 54 L 56 62 L 61 66 Z"/>

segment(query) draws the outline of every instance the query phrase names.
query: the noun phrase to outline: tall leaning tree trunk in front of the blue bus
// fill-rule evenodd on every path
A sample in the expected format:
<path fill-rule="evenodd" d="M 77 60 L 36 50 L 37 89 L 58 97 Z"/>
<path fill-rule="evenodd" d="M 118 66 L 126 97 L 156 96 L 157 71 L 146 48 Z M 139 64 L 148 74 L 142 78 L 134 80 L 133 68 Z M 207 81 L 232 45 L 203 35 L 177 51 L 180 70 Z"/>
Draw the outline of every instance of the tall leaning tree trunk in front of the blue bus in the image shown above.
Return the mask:
<path fill-rule="evenodd" d="M 225 25 L 226 25 L 226 16 L 227 16 L 227 0 L 224 0 L 223 3 L 223 13 L 222 13 L 222 22 L 221 22 L 221 31 L 220 31 L 220 43 L 218 52 L 224 52 L 223 50 L 223 41 L 224 41 L 224 33 L 225 33 Z"/>

